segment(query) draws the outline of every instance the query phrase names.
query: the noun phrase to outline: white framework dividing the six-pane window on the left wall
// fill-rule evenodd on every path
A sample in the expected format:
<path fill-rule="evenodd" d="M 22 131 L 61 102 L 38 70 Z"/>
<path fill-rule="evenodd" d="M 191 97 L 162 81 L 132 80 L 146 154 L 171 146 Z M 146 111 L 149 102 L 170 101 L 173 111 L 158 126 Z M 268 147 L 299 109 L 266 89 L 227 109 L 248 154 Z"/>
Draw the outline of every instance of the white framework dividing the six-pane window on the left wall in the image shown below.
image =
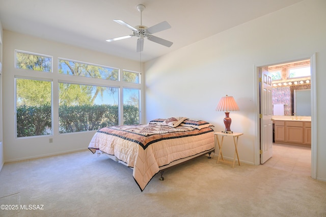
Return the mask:
<path fill-rule="evenodd" d="M 16 67 L 16 52 L 36 55 L 36 56 L 42 56 L 42 57 L 48 57 L 51 58 L 51 73 L 44 72 L 44 71 L 37 71 L 37 70 L 30 70 L 25 69 L 21 70 L 21 68 Z M 50 53 L 50 52 L 49 52 Z M 53 55 L 55 56 L 55 55 Z M 76 61 L 69 58 L 61 58 L 60 56 L 53 57 L 50 55 L 43 55 L 41 53 L 36 52 L 30 52 L 30 51 L 23 51 L 19 49 L 15 49 L 14 52 L 14 79 L 17 78 L 23 78 L 23 79 L 35 79 L 35 80 L 46 80 L 51 82 L 51 134 L 48 135 L 35 135 L 31 137 L 53 137 L 57 135 L 62 134 L 68 134 L 68 133 L 59 133 L 59 83 L 68 83 L 68 84 L 76 84 L 76 85 L 90 85 L 90 86 L 100 86 L 100 87 L 107 87 L 107 88 L 118 88 L 118 123 L 119 125 L 123 125 L 124 117 L 123 117 L 123 88 L 128 89 L 137 89 L 139 90 L 139 122 L 143 122 L 142 117 L 142 94 L 144 86 L 142 85 L 141 79 L 141 72 L 134 71 L 134 70 L 125 70 L 122 67 L 108 67 L 101 64 L 94 64 L 84 61 Z M 95 77 L 85 77 L 85 76 L 66 76 L 69 74 L 61 74 L 59 73 L 59 59 L 65 60 L 65 61 L 72 61 L 72 62 L 78 62 L 82 64 L 89 64 L 93 66 L 100 66 L 104 68 L 111 68 L 111 69 L 117 69 L 118 70 L 118 79 L 117 80 L 106 80 L 101 78 L 95 78 Z M 57 62 L 58 65 L 53 65 L 53 62 Z M 128 64 L 128 63 L 127 63 Z M 122 73 L 121 71 L 125 70 L 127 72 L 132 73 L 138 73 L 139 74 L 139 84 L 138 83 L 129 83 L 129 82 L 123 82 L 122 81 Z M 15 99 L 14 99 L 14 108 L 15 108 L 15 134 L 16 139 L 28 139 L 31 137 L 17 137 L 17 118 L 16 118 L 16 82 L 14 89 L 15 89 Z M 58 129 L 57 129 L 58 128 Z M 94 131 L 94 130 L 92 130 Z M 87 133 L 88 131 L 80 131 L 80 132 L 69 132 L 69 133 Z"/>

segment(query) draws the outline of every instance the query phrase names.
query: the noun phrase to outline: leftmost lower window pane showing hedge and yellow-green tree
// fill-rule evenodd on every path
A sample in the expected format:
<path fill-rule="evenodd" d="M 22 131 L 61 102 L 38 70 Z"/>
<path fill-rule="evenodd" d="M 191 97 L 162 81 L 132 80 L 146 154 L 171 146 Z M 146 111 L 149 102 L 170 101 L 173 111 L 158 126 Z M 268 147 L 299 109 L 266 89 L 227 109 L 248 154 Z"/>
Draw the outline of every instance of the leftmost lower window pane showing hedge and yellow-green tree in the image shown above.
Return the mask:
<path fill-rule="evenodd" d="M 52 82 L 15 79 L 17 138 L 52 133 Z"/>

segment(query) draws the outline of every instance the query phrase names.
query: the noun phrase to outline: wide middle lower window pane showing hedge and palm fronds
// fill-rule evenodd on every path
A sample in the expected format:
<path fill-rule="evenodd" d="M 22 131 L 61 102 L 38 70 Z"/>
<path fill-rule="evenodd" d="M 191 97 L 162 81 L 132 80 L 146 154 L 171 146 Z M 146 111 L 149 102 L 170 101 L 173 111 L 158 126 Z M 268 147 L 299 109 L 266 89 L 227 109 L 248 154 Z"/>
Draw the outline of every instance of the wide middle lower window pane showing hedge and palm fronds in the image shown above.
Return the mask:
<path fill-rule="evenodd" d="M 59 83 L 59 132 L 118 125 L 119 88 Z"/>

